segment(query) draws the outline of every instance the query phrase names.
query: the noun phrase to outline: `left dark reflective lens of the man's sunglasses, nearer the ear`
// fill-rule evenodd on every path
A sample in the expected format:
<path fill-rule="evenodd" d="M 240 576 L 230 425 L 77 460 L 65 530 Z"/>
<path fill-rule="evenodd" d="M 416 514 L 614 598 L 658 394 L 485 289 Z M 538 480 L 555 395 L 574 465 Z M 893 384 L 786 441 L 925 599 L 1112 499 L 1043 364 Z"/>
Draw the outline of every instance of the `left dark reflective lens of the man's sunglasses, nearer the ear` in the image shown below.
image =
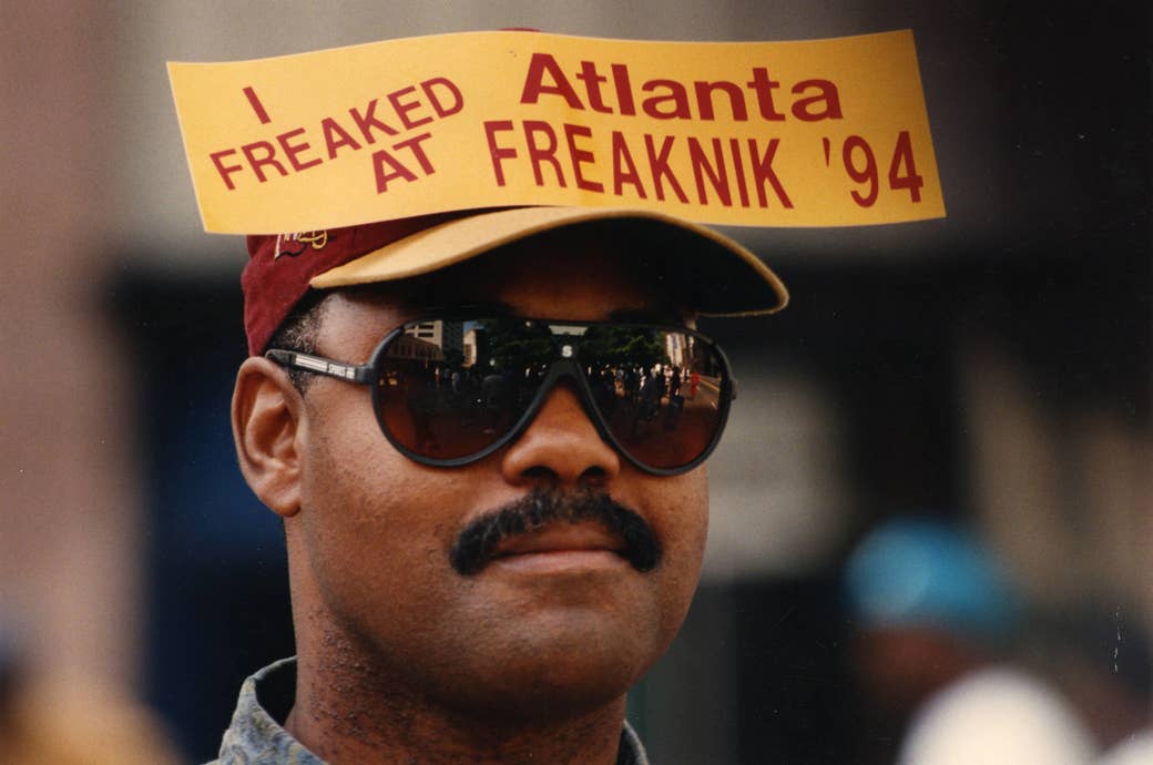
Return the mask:
<path fill-rule="evenodd" d="M 551 358 L 522 320 L 408 324 L 378 361 L 377 412 L 392 438 L 431 459 L 462 459 L 515 426 Z"/>

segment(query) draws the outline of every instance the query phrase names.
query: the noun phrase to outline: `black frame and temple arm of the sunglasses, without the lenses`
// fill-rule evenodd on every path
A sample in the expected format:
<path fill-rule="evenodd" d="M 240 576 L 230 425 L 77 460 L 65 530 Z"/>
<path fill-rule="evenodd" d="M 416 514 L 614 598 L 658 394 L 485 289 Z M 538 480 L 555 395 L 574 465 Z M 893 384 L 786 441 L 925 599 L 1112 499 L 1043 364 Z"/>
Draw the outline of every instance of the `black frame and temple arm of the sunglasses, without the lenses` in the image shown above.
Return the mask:
<path fill-rule="evenodd" d="M 489 318 L 500 320 L 500 321 L 518 321 L 525 322 L 527 324 L 542 324 L 544 325 L 550 336 L 553 339 L 553 358 L 549 363 L 549 369 L 541 380 L 541 383 L 529 400 L 525 411 L 517 418 L 517 421 L 500 436 L 498 436 L 491 444 L 484 447 L 480 451 L 473 452 L 470 455 L 465 455 L 464 457 L 452 457 L 452 458 L 439 458 L 429 457 L 428 455 L 422 455 L 417 451 L 413 451 L 405 444 L 400 443 L 395 436 L 390 432 L 387 425 L 385 423 L 383 405 L 380 403 L 379 385 L 376 384 L 380 380 L 380 373 L 378 370 L 378 365 L 385 358 L 387 348 L 398 338 L 406 335 L 406 330 L 417 324 L 425 324 L 432 321 L 485 321 Z M 701 453 L 695 457 L 692 462 L 685 465 L 678 465 L 676 467 L 654 467 L 651 465 L 645 464 L 642 460 L 638 459 L 628 451 L 628 449 L 620 443 L 620 441 L 612 435 L 612 430 L 609 428 L 609 423 L 605 415 L 601 412 L 600 406 L 596 403 L 596 396 L 593 392 L 591 385 L 589 384 L 588 376 L 580 366 L 580 337 L 572 336 L 578 351 L 572 352 L 571 350 L 566 355 L 566 344 L 557 343 L 558 337 L 568 337 L 570 333 L 552 331 L 552 327 L 563 328 L 591 328 L 591 327 L 611 327 L 611 328 L 624 328 L 634 330 L 649 330 L 649 331 L 661 331 L 661 332 L 675 332 L 678 335 L 685 335 L 687 337 L 693 337 L 702 343 L 704 343 L 716 358 L 721 362 L 721 384 L 718 385 L 718 399 L 717 399 L 717 425 L 713 433 L 713 437 L 709 443 L 701 450 Z M 568 346 L 571 348 L 571 345 Z M 617 453 L 625 457 L 630 464 L 634 465 L 641 471 L 649 473 L 651 475 L 679 475 L 681 473 L 687 473 L 688 471 L 695 468 L 698 465 L 702 464 L 713 451 L 716 449 L 717 444 L 721 442 L 721 436 L 724 434 L 725 426 L 729 421 L 729 411 L 732 406 L 732 402 L 737 398 L 737 381 L 732 375 L 732 367 L 729 363 L 729 358 L 725 355 L 724 351 L 715 340 L 713 340 L 707 335 L 698 332 L 696 330 L 688 329 L 687 327 L 680 327 L 676 324 L 654 324 L 654 323 L 641 323 L 641 322 L 579 322 L 568 321 L 559 318 L 537 318 L 527 316 L 481 316 L 481 317 L 460 317 L 460 316 L 431 316 L 424 318 L 417 318 L 414 321 L 405 322 L 400 327 L 397 327 L 376 345 L 372 350 L 372 354 L 366 363 L 348 363 L 344 361 L 337 361 L 336 359 L 329 359 L 326 357 L 315 355 L 310 353 L 301 353 L 297 351 L 286 351 L 282 348 L 270 348 L 264 353 L 265 358 L 281 367 L 288 369 L 299 369 L 301 372 L 311 372 L 314 374 L 324 375 L 326 377 L 334 377 L 337 380 L 344 380 L 345 382 L 351 382 L 357 385 L 368 385 L 370 389 L 370 396 L 372 399 L 372 412 L 376 415 L 377 427 L 384 437 L 387 438 L 392 447 L 402 453 L 408 459 L 421 465 L 429 465 L 431 467 L 462 467 L 465 465 L 470 465 L 473 463 L 480 462 L 493 453 L 495 451 L 502 449 L 503 447 L 515 441 L 520 435 L 528 428 L 528 426 L 536 419 L 536 414 L 540 412 L 541 407 L 544 405 L 545 398 L 548 398 L 549 392 L 558 382 L 564 378 L 571 378 L 579 391 L 578 398 L 580 399 L 581 407 L 588 415 L 589 420 L 596 427 L 597 433 L 601 438 L 611 445 Z"/>

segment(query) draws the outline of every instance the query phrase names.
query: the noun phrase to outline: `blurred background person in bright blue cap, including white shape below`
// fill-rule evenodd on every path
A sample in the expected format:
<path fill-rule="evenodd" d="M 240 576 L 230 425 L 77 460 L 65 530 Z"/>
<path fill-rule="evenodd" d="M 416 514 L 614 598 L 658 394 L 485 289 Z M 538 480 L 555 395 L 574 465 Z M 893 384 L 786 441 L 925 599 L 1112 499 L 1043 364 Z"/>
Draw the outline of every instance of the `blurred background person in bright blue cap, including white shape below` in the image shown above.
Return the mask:
<path fill-rule="evenodd" d="M 1070 699 L 1018 661 L 1019 594 L 967 531 L 899 518 L 853 550 L 844 585 L 866 699 L 862 763 L 1085 765 Z"/>

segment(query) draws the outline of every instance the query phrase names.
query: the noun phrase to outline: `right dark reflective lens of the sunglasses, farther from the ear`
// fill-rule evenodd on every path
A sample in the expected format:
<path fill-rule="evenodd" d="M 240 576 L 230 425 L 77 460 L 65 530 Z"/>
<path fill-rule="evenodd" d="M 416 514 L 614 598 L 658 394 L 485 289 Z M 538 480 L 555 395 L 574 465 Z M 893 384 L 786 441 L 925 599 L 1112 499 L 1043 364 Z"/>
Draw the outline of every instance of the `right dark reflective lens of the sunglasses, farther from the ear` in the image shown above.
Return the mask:
<path fill-rule="evenodd" d="M 714 442 L 729 382 L 724 361 L 708 340 L 685 332 L 603 328 L 586 335 L 581 360 L 609 430 L 638 462 L 675 470 Z"/>

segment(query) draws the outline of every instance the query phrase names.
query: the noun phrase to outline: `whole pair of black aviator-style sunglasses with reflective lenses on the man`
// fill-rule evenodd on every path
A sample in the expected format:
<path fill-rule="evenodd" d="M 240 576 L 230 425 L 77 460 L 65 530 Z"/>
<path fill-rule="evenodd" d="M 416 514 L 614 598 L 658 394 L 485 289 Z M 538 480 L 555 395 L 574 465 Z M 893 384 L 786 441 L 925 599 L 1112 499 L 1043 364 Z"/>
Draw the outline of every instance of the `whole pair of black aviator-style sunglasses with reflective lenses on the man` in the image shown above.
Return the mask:
<path fill-rule="evenodd" d="M 369 385 L 384 436 L 406 457 L 440 467 L 512 442 L 567 380 L 605 442 L 648 473 L 673 475 L 716 448 L 736 398 L 724 353 L 683 327 L 429 318 L 391 331 L 364 365 L 278 348 L 265 357 Z"/>

